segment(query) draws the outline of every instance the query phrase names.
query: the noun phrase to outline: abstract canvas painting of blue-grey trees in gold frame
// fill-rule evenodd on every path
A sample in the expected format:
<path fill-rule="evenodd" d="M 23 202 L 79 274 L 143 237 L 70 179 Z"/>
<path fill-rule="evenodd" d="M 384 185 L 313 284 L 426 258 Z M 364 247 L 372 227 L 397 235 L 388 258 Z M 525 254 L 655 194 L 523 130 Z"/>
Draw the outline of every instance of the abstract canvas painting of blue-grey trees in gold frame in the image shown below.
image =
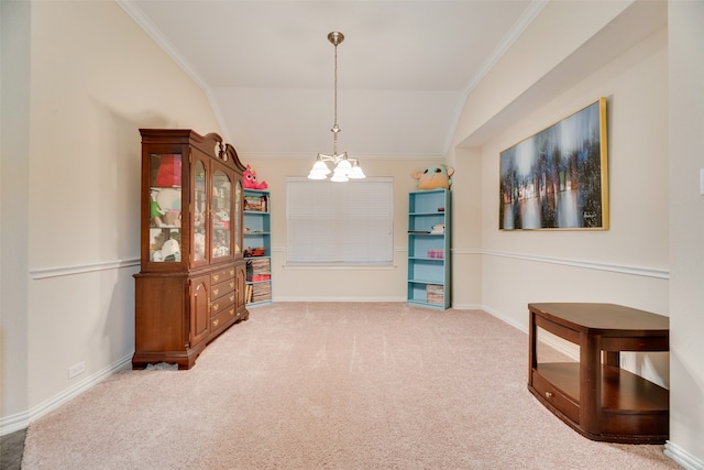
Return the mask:
<path fill-rule="evenodd" d="M 501 152 L 501 230 L 608 229 L 606 98 Z"/>

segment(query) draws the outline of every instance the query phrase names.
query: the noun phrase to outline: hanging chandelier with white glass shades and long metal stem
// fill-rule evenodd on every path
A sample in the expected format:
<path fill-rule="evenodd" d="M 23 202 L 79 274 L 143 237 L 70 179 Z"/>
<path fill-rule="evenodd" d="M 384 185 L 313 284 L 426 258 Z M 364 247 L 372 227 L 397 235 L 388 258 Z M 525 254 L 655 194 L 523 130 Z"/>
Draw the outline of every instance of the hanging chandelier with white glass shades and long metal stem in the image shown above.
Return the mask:
<path fill-rule="evenodd" d="M 310 179 L 326 179 L 331 173 L 326 162 L 331 162 L 334 167 L 332 177 L 330 178 L 331 182 L 365 178 L 366 176 L 356 159 L 350 159 L 346 152 L 338 153 L 338 133 L 341 131 L 338 125 L 338 45 L 344 41 L 344 35 L 338 31 L 333 31 L 328 34 L 328 41 L 334 46 L 334 124 L 332 129 L 330 129 L 332 132 L 332 155 L 319 153 L 308 177 Z"/>

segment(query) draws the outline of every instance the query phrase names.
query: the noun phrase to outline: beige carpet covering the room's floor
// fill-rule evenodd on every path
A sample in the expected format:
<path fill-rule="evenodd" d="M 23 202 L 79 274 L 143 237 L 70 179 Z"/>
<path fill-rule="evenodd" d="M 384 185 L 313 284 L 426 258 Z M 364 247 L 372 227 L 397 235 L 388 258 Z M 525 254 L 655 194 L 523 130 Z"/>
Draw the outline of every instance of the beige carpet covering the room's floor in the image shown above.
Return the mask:
<path fill-rule="evenodd" d="M 528 392 L 527 351 L 476 310 L 276 303 L 190 371 L 125 370 L 33 423 L 23 468 L 679 468 L 564 425 Z"/>

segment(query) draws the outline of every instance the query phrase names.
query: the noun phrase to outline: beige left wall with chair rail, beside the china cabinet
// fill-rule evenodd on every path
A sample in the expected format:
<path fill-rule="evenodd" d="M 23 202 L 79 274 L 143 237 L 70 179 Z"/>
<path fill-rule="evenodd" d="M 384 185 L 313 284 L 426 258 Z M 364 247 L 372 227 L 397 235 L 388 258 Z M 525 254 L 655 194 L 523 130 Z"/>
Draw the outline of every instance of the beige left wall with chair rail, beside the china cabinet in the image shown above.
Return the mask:
<path fill-rule="evenodd" d="M 6 3 L 24 9 L 6 18 L 13 11 Z M 3 40 L 10 21 L 14 37 L 31 43 L 23 76 L 2 84 L 3 96 L 22 84 L 29 100 L 2 109 L 3 133 L 8 116 L 29 120 L 23 135 L 13 134 L 18 154 L 3 145 L 2 159 L 2 236 L 8 241 L 6 227 L 19 236 L 2 245 L 1 416 L 25 427 L 133 352 L 139 128 L 219 127 L 205 92 L 117 3 L 2 4 Z M 3 72 L 21 46 L 3 41 Z M 16 183 L 6 173 L 15 161 L 28 175 Z M 26 216 L 7 219 L 15 210 L 4 197 L 10 188 Z M 81 361 L 86 372 L 69 380 L 68 368 Z"/>

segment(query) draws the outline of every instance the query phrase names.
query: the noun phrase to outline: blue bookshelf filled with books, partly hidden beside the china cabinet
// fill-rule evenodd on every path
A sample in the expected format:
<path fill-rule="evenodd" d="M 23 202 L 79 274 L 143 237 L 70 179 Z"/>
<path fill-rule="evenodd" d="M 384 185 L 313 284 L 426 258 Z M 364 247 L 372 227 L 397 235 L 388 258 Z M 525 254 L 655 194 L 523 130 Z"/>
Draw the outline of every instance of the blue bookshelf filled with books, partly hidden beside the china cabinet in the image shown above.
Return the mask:
<path fill-rule="evenodd" d="M 244 189 L 244 297 L 248 307 L 272 303 L 271 223 L 270 193 Z"/>

